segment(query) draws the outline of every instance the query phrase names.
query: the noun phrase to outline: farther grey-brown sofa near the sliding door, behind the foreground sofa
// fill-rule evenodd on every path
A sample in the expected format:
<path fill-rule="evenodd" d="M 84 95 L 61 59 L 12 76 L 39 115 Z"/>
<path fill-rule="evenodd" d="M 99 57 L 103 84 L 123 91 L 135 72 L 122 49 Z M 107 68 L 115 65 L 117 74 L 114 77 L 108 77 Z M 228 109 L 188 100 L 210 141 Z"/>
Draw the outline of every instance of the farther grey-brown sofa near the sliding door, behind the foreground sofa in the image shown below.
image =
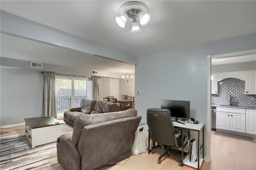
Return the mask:
<path fill-rule="evenodd" d="M 74 125 L 74 118 L 82 114 L 98 114 L 119 111 L 120 106 L 116 103 L 104 102 L 100 100 L 82 99 L 80 107 L 70 108 L 64 112 L 64 122 L 70 126 Z"/>

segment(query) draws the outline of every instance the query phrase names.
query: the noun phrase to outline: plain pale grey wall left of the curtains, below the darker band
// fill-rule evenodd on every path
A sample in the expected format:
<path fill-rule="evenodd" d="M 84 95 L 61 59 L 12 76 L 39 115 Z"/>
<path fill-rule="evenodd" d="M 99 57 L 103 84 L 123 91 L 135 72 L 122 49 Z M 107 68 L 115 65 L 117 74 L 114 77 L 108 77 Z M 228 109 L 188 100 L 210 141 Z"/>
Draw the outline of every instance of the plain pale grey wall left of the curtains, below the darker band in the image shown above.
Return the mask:
<path fill-rule="evenodd" d="M 43 74 L 0 67 L 0 126 L 24 123 L 24 118 L 42 115 Z"/>

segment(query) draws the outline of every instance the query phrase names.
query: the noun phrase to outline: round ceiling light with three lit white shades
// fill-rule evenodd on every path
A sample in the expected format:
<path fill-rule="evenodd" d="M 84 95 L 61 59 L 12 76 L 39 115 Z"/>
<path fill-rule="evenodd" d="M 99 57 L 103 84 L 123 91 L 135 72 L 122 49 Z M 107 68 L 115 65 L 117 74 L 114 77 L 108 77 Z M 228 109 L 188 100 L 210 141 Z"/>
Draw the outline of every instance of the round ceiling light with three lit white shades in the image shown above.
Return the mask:
<path fill-rule="evenodd" d="M 116 23 L 124 28 L 126 21 L 130 18 L 130 20 L 132 20 L 131 32 L 140 32 L 139 24 L 145 26 L 150 20 L 148 7 L 141 2 L 127 2 L 120 7 L 119 13 L 121 16 L 116 17 Z"/>

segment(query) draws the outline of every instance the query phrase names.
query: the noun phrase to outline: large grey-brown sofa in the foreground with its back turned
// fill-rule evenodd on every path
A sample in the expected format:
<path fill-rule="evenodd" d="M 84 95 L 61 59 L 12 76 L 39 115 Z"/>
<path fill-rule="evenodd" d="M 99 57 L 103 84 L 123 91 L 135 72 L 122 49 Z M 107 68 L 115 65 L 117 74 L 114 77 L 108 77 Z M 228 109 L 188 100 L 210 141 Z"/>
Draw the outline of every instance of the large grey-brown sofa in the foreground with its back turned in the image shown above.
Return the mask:
<path fill-rule="evenodd" d="M 73 133 L 57 139 L 58 162 L 65 170 L 94 170 L 129 158 L 141 118 L 134 108 L 75 116 Z"/>

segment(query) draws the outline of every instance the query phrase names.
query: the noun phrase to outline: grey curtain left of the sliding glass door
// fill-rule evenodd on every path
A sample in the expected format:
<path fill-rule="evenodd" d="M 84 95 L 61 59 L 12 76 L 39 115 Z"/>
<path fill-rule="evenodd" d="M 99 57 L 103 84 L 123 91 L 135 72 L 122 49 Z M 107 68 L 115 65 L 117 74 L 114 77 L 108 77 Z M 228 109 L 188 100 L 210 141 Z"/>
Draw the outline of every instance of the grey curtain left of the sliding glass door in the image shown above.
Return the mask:
<path fill-rule="evenodd" d="M 42 116 L 52 116 L 57 119 L 56 98 L 55 98 L 55 73 L 44 73 L 44 89 Z"/>

